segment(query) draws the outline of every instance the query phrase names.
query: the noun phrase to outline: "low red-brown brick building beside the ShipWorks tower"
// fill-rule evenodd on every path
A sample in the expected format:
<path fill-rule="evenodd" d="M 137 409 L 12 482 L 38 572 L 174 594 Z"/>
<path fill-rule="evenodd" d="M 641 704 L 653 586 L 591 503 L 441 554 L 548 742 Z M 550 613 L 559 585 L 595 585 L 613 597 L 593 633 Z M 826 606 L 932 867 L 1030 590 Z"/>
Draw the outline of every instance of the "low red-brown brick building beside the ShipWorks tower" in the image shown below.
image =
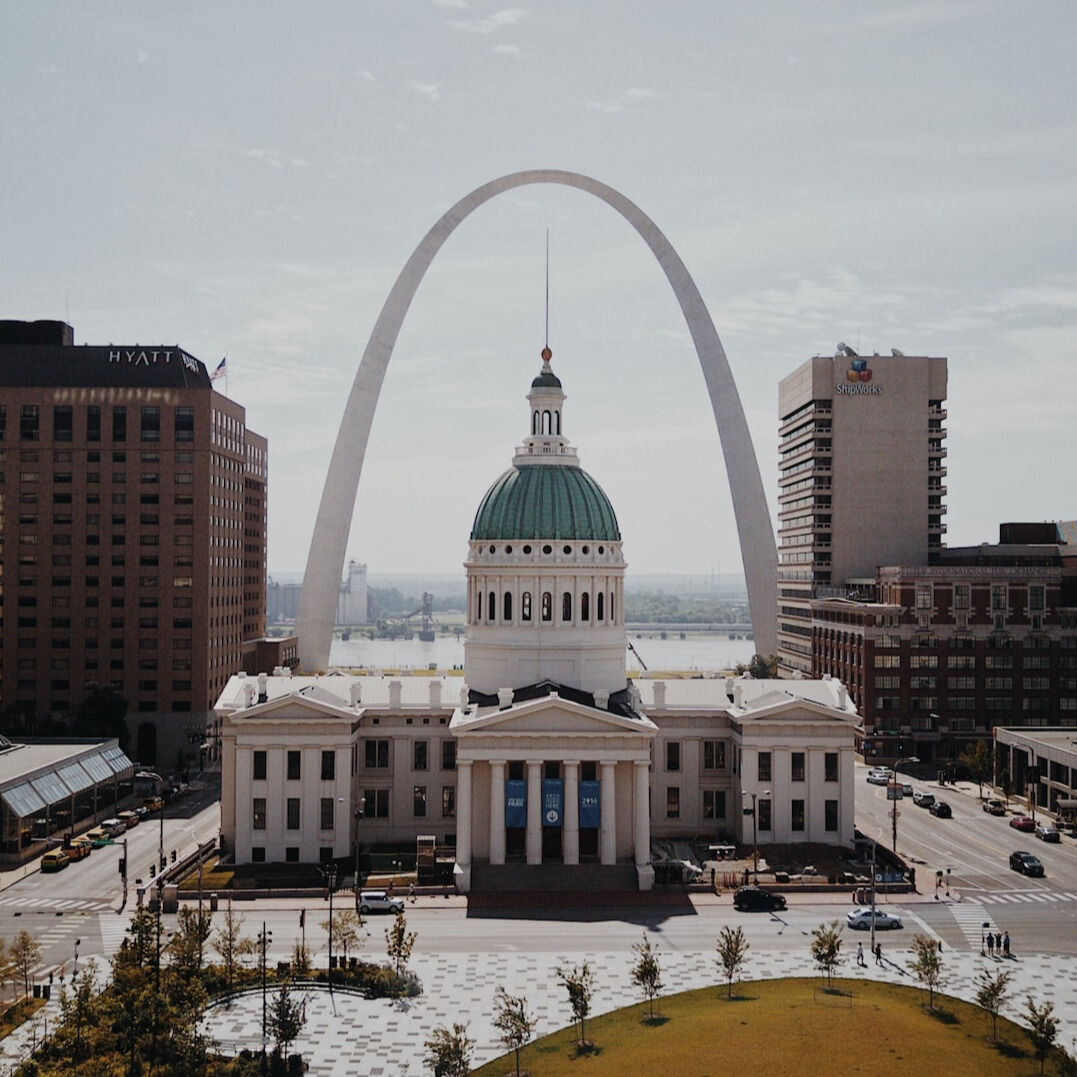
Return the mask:
<path fill-rule="evenodd" d="M 848 685 L 865 758 L 952 760 L 999 726 L 1077 727 L 1074 530 L 1004 523 L 997 545 L 812 602 L 813 675 Z"/>

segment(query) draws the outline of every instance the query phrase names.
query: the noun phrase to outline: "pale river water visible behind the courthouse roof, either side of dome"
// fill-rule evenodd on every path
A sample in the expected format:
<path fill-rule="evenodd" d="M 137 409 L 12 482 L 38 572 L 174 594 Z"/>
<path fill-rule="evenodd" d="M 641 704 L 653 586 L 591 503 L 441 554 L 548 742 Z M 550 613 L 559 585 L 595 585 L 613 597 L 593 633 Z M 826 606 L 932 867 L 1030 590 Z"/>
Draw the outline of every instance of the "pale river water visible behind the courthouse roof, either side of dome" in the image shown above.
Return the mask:
<path fill-rule="evenodd" d="M 737 662 L 751 661 L 755 654 L 753 640 L 730 640 L 726 635 L 704 635 L 679 631 L 629 632 L 632 646 L 640 653 L 647 669 L 662 672 L 710 671 L 732 669 Z M 410 640 L 333 640 L 330 665 L 346 669 L 426 670 L 433 665 L 439 670 L 451 670 L 464 663 L 463 637 L 439 635 L 432 643 L 418 638 Z M 631 652 L 625 654 L 625 668 L 639 671 L 639 660 Z"/>

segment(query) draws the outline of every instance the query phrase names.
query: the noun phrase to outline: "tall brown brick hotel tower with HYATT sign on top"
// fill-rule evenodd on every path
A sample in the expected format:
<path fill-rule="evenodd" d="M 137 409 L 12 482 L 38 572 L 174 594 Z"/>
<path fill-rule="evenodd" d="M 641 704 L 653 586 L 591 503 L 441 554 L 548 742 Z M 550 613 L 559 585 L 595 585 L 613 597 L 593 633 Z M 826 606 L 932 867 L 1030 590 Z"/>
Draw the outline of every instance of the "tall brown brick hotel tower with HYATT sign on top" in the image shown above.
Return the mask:
<path fill-rule="evenodd" d="M 212 704 L 265 633 L 267 443 L 178 346 L 0 321 L 0 709 L 127 701 L 130 755 L 215 752 Z"/>

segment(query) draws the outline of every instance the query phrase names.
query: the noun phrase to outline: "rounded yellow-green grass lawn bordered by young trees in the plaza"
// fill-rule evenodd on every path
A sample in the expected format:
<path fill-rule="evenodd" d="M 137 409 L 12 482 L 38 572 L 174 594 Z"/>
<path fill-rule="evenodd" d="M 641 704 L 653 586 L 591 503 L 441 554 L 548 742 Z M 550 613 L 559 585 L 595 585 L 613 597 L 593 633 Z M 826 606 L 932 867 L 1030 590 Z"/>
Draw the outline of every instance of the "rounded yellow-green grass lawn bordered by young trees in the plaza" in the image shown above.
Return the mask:
<path fill-rule="evenodd" d="M 588 1021 L 595 1047 L 587 1053 L 577 1055 L 573 1029 L 536 1040 L 520 1069 L 531 1077 L 1039 1073 L 1017 1025 L 999 1018 L 995 1045 L 990 1018 L 968 1003 L 936 995 L 929 1012 L 926 993 L 914 988 L 843 981 L 840 991 L 828 993 L 825 980 L 791 979 L 735 984 L 732 999 L 724 985 L 671 995 L 656 1004 L 654 1023 L 645 1003 Z M 474 1073 L 512 1074 L 513 1058 Z"/>

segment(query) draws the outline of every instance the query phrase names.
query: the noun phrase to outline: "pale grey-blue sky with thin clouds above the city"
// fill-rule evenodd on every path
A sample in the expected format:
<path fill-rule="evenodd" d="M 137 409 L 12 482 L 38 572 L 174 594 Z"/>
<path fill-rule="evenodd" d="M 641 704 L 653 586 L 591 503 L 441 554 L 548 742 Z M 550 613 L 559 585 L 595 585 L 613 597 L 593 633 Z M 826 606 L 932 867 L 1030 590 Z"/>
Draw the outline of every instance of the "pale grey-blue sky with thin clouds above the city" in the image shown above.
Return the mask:
<path fill-rule="evenodd" d="M 369 332 L 438 216 L 567 169 L 670 239 L 777 512 L 778 383 L 838 341 L 949 359 L 949 545 L 1073 519 L 1077 5 L 0 0 L 0 318 L 180 345 L 269 438 L 270 573 L 302 572 Z M 629 572 L 740 549 L 659 266 L 582 192 L 501 195 L 404 322 L 348 556 L 460 572 L 544 341 Z M 218 382 L 221 386 L 221 382 Z M 777 517 L 775 517 L 777 518 Z"/>

